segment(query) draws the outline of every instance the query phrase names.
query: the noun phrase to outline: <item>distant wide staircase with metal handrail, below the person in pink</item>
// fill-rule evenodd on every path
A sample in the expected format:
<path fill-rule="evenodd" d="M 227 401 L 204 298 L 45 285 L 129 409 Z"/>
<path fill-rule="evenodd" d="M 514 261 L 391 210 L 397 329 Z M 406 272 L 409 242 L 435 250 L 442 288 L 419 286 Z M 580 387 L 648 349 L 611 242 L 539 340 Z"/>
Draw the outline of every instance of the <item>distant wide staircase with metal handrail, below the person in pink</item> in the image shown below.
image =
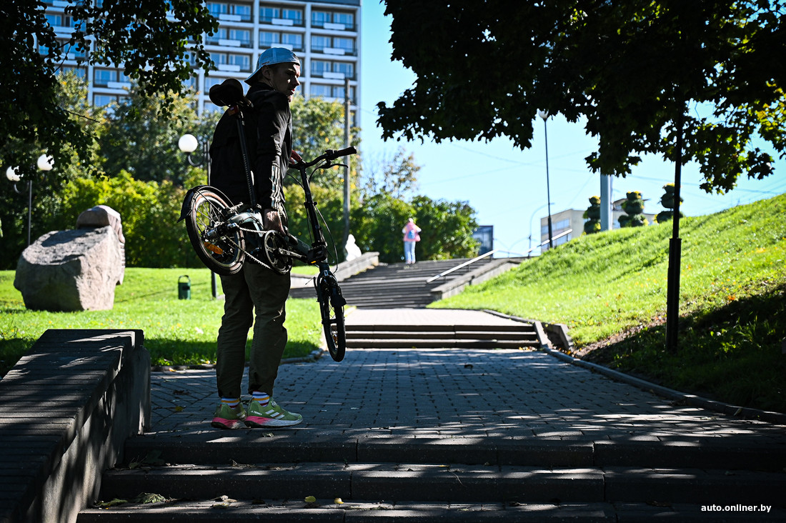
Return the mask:
<path fill-rule="evenodd" d="M 460 292 L 465 285 L 493 278 L 520 263 L 519 259 L 478 260 L 445 277 L 427 282 L 429 278 L 467 262 L 468 259 L 430 260 L 413 265 L 393 263 L 369 268 L 343 279 L 341 290 L 350 307 L 357 308 L 422 308 Z M 294 286 L 294 298 L 314 298 L 313 285 Z"/>

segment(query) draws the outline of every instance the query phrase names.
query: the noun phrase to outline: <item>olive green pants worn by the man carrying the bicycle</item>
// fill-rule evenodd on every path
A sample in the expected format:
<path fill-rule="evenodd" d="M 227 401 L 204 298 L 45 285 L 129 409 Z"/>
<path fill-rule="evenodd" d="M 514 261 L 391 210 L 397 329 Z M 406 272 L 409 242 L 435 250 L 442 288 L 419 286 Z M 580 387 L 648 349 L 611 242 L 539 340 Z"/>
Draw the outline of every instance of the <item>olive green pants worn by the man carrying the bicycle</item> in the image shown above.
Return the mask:
<path fill-rule="evenodd" d="M 222 276 L 221 285 L 226 301 L 215 366 L 219 396 L 241 397 L 245 346 L 252 323 L 254 336 L 248 358 L 248 392 L 267 392 L 273 396 L 278 366 L 287 344 L 284 321 L 289 274 L 245 263 L 239 273 Z"/>

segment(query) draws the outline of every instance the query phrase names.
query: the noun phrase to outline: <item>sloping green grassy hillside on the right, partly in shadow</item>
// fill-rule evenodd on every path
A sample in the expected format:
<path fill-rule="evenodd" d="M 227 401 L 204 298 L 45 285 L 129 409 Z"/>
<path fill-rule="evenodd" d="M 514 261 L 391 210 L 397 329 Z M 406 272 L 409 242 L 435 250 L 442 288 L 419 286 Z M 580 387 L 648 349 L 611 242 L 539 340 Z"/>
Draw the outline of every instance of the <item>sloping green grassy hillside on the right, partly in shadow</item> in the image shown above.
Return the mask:
<path fill-rule="evenodd" d="M 680 221 L 679 348 L 666 351 L 671 223 L 585 235 L 432 307 L 564 323 L 575 354 L 786 412 L 786 194 Z"/>

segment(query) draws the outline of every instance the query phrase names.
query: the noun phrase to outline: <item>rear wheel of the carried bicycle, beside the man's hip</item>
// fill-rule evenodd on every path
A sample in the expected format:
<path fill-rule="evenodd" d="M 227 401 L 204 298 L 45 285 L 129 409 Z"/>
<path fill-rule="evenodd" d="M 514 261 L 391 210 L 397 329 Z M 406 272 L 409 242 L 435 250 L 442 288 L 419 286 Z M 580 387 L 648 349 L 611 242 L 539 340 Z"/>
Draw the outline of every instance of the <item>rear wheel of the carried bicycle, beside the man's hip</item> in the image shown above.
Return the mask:
<path fill-rule="evenodd" d="M 196 251 L 208 269 L 230 276 L 243 268 L 245 238 L 242 230 L 222 231 L 230 205 L 210 188 L 196 190 L 189 202 L 185 216 L 185 230 Z M 219 231 L 208 238 L 207 231 Z"/>

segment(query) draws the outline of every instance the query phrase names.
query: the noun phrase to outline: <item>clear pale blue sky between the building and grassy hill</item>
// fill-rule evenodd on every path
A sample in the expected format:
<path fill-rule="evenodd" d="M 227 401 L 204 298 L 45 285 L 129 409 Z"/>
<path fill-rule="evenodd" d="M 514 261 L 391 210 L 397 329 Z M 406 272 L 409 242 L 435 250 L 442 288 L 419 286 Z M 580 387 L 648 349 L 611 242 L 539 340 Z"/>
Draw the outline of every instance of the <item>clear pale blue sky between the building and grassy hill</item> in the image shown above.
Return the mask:
<path fill-rule="evenodd" d="M 362 5 L 361 35 L 361 125 L 362 154 L 366 158 L 393 153 L 399 146 L 413 153 L 419 173 L 419 193 L 434 199 L 468 201 L 478 212 L 481 225 L 494 226 L 494 247 L 526 252 L 528 237 L 532 245 L 540 238 L 539 218 L 546 215 L 546 168 L 543 122 L 535 122 L 531 149 L 515 149 L 506 139 L 492 142 L 384 142 L 376 127 L 376 104 L 395 101 L 413 84 L 413 73 L 400 62 L 391 61 L 390 17 L 377 0 Z M 549 118 L 549 186 L 551 212 L 575 208 L 584 210 L 589 197 L 600 193 L 600 179 L 590 173 L 584 160 L 596 150 L 597 141 L 586 135 L 581 123 L 564 118 Z M 773 154 L 773 156 L 775 156 Z M 696 164 L 682 169 L 682 212 L 696 216 L 718 212 L 737 204 L 762 200 L 786 192 L 786 160 L 777 160 L 775 174 L 765 180 L 740 180 L 725 195 L 708 194 L 699 189 L 701 175 Z M 659 157 L 645 157 L 633 174 L 615 178 L 612 194 L 625 197 L 641 191 L 649 201 L 645 212 L 657 214 L 663 208 L 659 199 L 663 185 L 674 182 L 674 164 Z M 403 224 L 402 224 L 403 226 Z M 428 231 L 424 231 L 428 232 Z M 428 236 L 425 241 L 428 241 Z M 538 252 L 537 250 L 534 252 Z"/>

